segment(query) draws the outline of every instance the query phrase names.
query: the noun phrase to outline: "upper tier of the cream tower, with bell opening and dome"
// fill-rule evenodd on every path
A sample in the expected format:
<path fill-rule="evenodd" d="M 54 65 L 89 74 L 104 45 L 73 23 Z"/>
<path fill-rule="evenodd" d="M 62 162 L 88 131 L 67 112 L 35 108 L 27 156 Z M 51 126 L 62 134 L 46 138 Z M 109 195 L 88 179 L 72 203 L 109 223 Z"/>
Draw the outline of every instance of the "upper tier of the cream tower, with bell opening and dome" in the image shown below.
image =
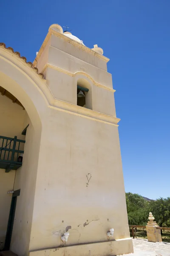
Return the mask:
<path fill-rule="evenodd" d="M 82 86 L 88 89 L 86 108 L 116 117 L 108 61 L 97 44 L 90 49 L 82 40 L 70 32 L 63 33 L 61 26 L 53 24 L 34 66 L 44 74 L 56 99 L 77 105 L 77 85 Z"/>

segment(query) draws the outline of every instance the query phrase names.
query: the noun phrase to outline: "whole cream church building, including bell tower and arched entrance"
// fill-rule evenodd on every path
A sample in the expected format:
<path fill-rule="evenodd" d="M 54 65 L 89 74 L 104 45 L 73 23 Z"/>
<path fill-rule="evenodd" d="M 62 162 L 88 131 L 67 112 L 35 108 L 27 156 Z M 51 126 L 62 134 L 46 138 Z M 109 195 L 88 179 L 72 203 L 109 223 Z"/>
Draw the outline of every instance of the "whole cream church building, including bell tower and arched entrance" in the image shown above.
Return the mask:
<path fill-rule="evenodd" d="M 58 24 L 33 64 L 0 43 L 0 255 L 133 252 L 108 61 Z"/>

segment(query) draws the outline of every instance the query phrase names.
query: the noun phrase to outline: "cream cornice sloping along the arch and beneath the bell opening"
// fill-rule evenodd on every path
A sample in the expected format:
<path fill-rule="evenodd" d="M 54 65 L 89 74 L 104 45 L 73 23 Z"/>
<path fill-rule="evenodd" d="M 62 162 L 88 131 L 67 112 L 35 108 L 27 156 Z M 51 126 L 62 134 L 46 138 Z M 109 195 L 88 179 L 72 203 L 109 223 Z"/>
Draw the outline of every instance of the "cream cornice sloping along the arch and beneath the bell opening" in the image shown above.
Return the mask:
<path fill-rule="evenodd" d="M 91 110 L 88 108 L 83 108 L 81 106 L 77 106 L 73 103 L 64 102 L 62 100 L 56 99 L 54 97 L 53 93 L 51 92 L 50 88 L 47 86 L 46 80 L 40 79 L 43 76 L 41 76 L 41 74 L 39 74 L 39 73 L 37 76 L 37 69 L 32 68 L 32 66 L 31 66 L 32 64 L 29 62 L 27 63 L 25 57 L 20 57 L 20 54 L 18 55 L 18 53 L 13 52 L 13 50 L 11 48 L 6 49 L 4 47 L 4 44 L 0 44 L 0 47 L 3 47 L 5 49 L 4 50 L 5 55 L 9 56 L 9 58 L 6 58 L 6 56 L 0 55 L 0 58 L 3 58 L 8 63 L 11 63 L 14 67 L 16 67 L 18 70 L 20 70 L 20 72 L 25 73 L 26 76 L 29 76 L 29 78 L 34 83 L 34 86 L 37 87 L 37 90 L 39 90 L 43 94 L 48 108 L 54 108 L 57 111 L 63 111 L 66 113 L 77 115 L 77 116 L 82 116 L 84 118 L 88 118 L 88 119 L 91 119 L 94 121 L 99 121 L 99 122 L 103 122 L 103 123 L 106 123 L 109 125 L 118 126 L 118 122 L 120 121 L 120 119 L 116 118 L 115 116 L 110 116 L 105 113 L 100 113 L 98 111 L 94 111 L 94 110 Z M 16 57 L 19 57 L 19 60 L 21 61 L 20 65 L 18 65 L 19 63 L 15 63 Z M 24 64 L 26 64 L 26 65 L 24 65 Z M 29 68 L 28 69 L 22 68 L 22 65 L 24 65 L 26 67 L 28 67 L 28 66 L 31 67 L 30 71 L 34 70 L 36 72 L 35 76 L 31 75 L 32 72 L 28 72 Z"/>

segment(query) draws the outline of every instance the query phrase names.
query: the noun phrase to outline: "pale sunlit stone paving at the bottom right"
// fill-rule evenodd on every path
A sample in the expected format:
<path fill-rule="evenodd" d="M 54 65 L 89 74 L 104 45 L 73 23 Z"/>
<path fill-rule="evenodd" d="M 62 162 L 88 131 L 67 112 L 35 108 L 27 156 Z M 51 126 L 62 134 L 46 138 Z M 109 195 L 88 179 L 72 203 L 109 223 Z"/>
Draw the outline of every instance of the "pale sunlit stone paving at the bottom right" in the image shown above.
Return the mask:
<path fill-rule="evenodd" d="M 170 256 L 170 243 L 152 243 L 144 239 L 133 239 L 134 253 L 126 256 Z"/>

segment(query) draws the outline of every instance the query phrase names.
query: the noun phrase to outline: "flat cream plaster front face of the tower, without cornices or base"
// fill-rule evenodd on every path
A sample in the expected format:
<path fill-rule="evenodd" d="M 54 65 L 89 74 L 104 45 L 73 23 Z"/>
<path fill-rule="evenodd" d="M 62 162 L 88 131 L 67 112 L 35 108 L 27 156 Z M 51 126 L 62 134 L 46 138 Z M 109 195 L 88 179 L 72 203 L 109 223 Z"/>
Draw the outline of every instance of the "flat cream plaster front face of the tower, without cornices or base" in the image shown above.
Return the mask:
<path fill-rule="evenodd" d="M 111 227 L 114 239 L 129 238 L 118 128 L 90 118 L 93 111 L 116 117 L 111 74 L 102 64 L 73 42 L 51 36 L 46 81 L 55 99 L 71 105 L 44 112 L 29 250 L 61 245 L 68 227 L 67 245 L 107 241 Z M 92 94 L 88 116 L 74 112 L 83 79 Z"/>

